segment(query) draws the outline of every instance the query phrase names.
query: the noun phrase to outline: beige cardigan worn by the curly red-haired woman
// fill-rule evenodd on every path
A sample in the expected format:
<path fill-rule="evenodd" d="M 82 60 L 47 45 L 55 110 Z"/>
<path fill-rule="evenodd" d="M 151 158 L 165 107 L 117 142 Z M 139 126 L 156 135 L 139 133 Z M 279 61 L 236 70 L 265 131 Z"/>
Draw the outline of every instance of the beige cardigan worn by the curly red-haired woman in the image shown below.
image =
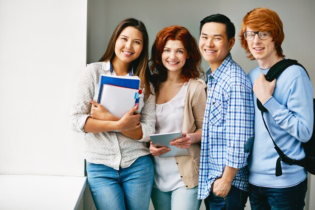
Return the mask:
<path fill-rule="evenodd" d="M 191 79 L 184 107 L 184 133 L 202 129 L 202 121 L 207 101 L 207 86 L 203 80 Z M 187 189 L 198 185 L 200 144 L 192 144 L 189 156 L 175 157 L 181 178 Z"/>

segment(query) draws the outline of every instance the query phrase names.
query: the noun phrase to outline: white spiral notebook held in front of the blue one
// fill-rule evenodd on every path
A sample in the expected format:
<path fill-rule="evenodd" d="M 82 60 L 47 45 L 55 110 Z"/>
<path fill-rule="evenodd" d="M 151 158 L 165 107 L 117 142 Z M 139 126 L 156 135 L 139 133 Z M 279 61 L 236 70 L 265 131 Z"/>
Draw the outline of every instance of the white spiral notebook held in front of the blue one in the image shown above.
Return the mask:
<path fill-rule="evenodd" d="M 141 90 L 104 84 L 100 104 L 116 117 L 123 117 L 139 99 Z"/>

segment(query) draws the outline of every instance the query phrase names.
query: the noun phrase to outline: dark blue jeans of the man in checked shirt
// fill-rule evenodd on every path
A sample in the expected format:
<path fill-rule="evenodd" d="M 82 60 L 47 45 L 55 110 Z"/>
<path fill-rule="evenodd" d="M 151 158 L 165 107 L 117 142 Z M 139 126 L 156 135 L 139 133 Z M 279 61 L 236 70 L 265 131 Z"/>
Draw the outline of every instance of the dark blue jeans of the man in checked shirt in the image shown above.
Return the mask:
<path fill-rule="evenodd" d="M 207 210 L 244 210 L 248 196 L 249 192 L 232 185 L 225 197 L 217 196 L 211 191 L 204 203 Z"/>

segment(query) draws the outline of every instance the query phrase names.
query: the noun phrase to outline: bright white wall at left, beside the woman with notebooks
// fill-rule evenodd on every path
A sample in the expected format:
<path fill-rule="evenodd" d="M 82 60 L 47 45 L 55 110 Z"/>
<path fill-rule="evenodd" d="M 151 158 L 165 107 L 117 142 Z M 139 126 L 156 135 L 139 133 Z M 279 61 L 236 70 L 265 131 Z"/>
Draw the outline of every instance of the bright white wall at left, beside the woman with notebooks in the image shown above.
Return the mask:
<path fill-rule="evenodd" d="M 0 174 L 84 176 L 83 134 L 68 116 L 87 0 L 1 0 L 0 27 Z"/>

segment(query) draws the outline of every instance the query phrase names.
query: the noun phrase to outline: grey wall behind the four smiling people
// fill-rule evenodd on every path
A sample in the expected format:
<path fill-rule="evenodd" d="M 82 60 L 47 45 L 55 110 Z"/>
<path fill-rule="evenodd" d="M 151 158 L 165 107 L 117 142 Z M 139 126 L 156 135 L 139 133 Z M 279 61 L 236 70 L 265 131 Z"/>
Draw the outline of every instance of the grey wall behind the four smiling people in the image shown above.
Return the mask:
<path fill-rule="evenodd" d="M 156 33 L 170 25 L 182 25 L 186 27 L 196 38 L 199 39 L 199 22 L 206 16 L 216 13 L 226 15 L 234 23 L 237 34 L 240 32 L 243 17 L 254 8 L 266 7 L 278 13 L 283 25 L 285 40 L 283 42 L 284 54 L 292 59 L 297 59 L 302 63 L 315 83 L 315 72 L 312 70 L 314 60 L 315 42 L 313 36 L 315 27 L 315 1 L 313 0 L 89 0 L 89 5 L 97 8 L 88 14 L 90 23 L 98 23 L 89 28 L 88 24 L 88 62 L 98 61 L 105 52 L 107 43 L 116 25 L 124 18 L 133 17 L 144 22 L 150 40 L 150 46 Z M 105 7 L 105 8 L 104 8 Z M 102 11 L 103 10 L 103 11 Z M 100 14 L 97 14 L 99 13 Z M 106 15 L 104 15 L 106 14 Z M 103 20 L 101 16 L 104 16 Z M 103 21 L 103 22 L 102 22 Z M 99 24 L 100 23 L 100 24 Z M 104 27 L 101 29 L 101 27 Z M 106 27 L 106 29 L 105 29 Z M 95 28 L 95 29 L 93 29 Z M 104 30 L 104 34 L 101 32 Z M 93 43 L 90 41 L 93 40 Z M 98 44 L 95 44 L 98 43 Z M 89 45 L 93 45 L 90 47 Z M 257 61 L 250 61 L 246 58 L 240 42 L 237 41 L 232 49 L 232 56 L 246 72 L 255 67 Z M 91 56 L 90 56 L 91 55 Z M 207 68 L 207 63 L 203 61 L 203 67 Z M 313 86 L 314 87 L 314 86 Z M 308 193 L 315 194 L 315 176 L 309 177 Z M 315 209 L 315 200 L 306 197 L 305 209 Z M 311 197 L 311 196 L 310 196 Z M 308 208 L 309 205 L 309 208 Z M 249 205 L 248 205 L 249 206 Z M 153 209 L 150 207 L 150 209 Z M 205 209 L 202 205 L 201 209 Z M 250 207 L 247 207 L 250 209 Z"/>

